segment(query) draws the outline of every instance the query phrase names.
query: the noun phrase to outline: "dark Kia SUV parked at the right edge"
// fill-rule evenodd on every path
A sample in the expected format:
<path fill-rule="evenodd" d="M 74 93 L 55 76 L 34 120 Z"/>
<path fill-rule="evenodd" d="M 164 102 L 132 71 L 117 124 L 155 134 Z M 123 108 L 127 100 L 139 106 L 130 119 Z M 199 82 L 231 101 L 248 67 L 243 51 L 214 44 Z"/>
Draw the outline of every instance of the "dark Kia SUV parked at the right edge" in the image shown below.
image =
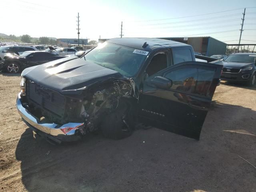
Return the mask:
<path fill-rule="evenodd" d="M 230 82 L 246 82 L 249 86 L 255 84 L 256 54 L 234 53 L 223 61 L 221 79 Z"/>

